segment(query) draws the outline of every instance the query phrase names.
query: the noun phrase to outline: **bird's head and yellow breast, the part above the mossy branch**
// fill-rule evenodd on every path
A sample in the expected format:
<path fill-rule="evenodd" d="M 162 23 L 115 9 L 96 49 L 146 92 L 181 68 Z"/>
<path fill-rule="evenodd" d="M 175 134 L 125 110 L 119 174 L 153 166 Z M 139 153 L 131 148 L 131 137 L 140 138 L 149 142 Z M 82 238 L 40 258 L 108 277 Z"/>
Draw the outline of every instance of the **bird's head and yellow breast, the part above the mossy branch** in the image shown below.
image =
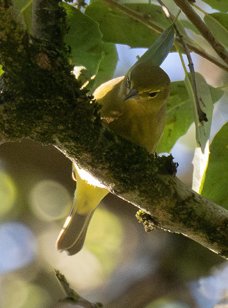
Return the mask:
<path fill-rule="evenodd" d="M 98 87 L 101 119 L 117 135 L 154 153 L 166 122 L 170 79 L 162 68 L 143 63 Z"/>

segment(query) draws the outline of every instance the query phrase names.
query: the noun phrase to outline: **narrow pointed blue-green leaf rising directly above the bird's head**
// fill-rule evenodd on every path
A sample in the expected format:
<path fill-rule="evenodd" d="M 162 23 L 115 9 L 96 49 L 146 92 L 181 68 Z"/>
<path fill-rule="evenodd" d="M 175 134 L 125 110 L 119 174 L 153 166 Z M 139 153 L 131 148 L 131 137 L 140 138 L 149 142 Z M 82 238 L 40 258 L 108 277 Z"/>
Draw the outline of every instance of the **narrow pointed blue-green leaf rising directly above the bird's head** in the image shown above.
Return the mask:
<path fill-rule="evenodd" d="M 159 35 L 158 39 L 156 39 L 153 45 L 151 45 L 129 71 L 131 71 L 133 67 L 142 65 L 143 63 L 151 63 L 160 66 L 173 46 L 174 40 L 175 30 L 171 26 Z"/>

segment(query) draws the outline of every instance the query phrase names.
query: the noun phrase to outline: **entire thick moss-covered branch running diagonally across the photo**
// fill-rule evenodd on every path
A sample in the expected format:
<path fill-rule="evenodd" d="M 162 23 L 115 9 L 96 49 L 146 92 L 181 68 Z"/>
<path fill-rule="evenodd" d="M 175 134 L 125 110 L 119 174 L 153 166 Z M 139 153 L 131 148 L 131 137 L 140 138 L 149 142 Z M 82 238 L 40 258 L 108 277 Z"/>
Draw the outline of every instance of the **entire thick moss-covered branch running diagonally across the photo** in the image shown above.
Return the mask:
<path fill-rule="evenodd" d="M 55 145 L 112 193 L 149 214 L 143 218 L 147 226 L 152 221 L 153 226 L 183 233 L 228 258 L 228 211 L 187 188 L 175 176 L 171 156 L 151 155 L 106 128 L 100 106 L 79 90 L 63 43 L 65 18 L 58 3 L 35 4 L 50 10 L 53 6 L 61 35 L 54 42 L 38 17 L 42 6 L 34 26 L 41 30 L 29 38 L 12 8 L 0 0 L 0 60 L 5 71 L 0 77 L 0 143 L 30 138 Z M 14 34 L 8 31 L 11 23 Z"/>

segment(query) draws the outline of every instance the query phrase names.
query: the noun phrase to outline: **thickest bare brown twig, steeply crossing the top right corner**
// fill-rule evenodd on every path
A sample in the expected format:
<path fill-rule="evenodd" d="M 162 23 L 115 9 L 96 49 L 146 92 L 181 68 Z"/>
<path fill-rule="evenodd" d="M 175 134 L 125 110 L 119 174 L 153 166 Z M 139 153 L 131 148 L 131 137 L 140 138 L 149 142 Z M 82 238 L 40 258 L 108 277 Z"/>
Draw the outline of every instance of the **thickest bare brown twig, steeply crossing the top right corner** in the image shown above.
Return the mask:
<path fill-rule="evenodd" d="M 208 28 L 205 22 L 199 17 L 199 15 L 193 10 L 192 6 L 187 0 L 173 0 L 177 6 L 182 10 L 182 12 L 187 16 L 191 23 L 199 30 L 200 34 L 214 51 L 219 55 L 219 57 L 228 64 L 228 51 L 226 48 L 218 42 L 212 31 Z"/>

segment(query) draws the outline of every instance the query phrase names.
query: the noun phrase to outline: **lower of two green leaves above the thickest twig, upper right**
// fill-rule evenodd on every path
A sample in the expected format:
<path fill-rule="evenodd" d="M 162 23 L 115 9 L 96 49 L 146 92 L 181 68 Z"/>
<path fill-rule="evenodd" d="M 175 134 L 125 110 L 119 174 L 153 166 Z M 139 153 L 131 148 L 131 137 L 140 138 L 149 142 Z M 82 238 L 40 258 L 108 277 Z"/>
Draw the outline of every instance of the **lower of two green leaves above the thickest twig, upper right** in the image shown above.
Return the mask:
<path fill-rule="evenodd" d="M 206 25 L 220 43 L 228 48 L 228 14 L 212 13 L 204 16 Z"/>

